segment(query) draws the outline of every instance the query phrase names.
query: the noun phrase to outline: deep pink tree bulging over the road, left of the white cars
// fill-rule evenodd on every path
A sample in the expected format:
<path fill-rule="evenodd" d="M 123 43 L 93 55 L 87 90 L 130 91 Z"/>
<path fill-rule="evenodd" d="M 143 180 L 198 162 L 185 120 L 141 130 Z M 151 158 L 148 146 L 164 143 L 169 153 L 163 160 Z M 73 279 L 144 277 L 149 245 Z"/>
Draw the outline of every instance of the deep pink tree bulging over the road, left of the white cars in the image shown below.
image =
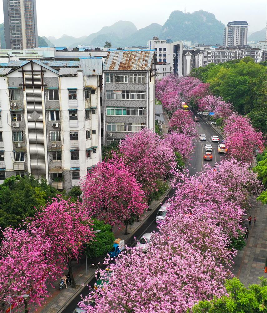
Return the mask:
<path fill-rule="evenodd" d="M 198 135 L 196 123 L 193 121 L 193 114 L 190 111 L 176 110 L 170 120 L 172 131 L 195 138 Z"/>

